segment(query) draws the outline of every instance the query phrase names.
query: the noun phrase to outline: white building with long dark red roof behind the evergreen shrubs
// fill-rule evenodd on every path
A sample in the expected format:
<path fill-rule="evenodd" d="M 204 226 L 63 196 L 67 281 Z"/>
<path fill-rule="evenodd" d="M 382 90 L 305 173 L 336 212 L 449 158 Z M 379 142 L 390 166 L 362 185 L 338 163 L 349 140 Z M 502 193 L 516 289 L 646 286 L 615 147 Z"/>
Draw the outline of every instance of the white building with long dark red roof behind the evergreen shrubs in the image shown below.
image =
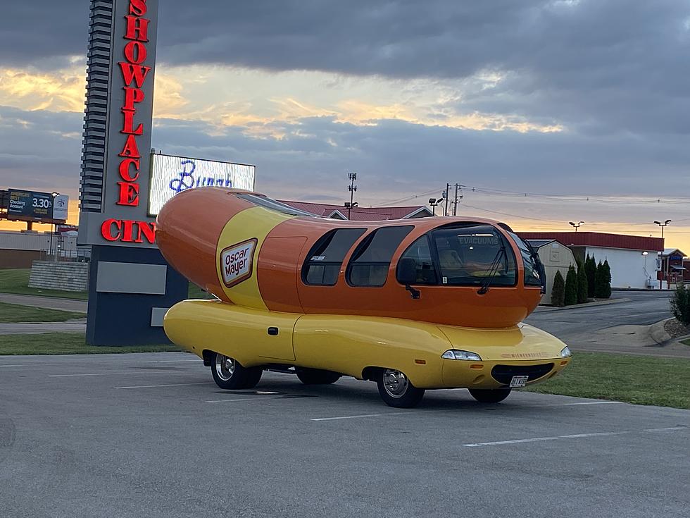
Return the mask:
<path fill-rule="evenodd" d="M 598 263 L 608 260 L 612 288 L 659 288 L 658 252 L 663 239 L 602 232 L 518 232 L 526 240 L 557 240 L 572 250 L 576 261 L 587 254 Z M 682 261 L 681 261 L 682 265 Z"/>

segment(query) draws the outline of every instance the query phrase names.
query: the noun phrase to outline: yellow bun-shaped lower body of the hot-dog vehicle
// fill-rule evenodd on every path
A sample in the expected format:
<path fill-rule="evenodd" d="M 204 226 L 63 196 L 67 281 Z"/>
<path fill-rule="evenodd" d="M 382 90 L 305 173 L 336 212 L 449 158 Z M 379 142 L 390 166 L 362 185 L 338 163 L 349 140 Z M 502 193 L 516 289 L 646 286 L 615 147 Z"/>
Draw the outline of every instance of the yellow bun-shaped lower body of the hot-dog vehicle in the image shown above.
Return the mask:
<path fill-rule="evenodd" d="M 271 330 L 271 331 L 269 331 Z M 479 329 L 372 316 L 266 312 L 215 300 L 187 300 L 165 315 L 172 342 L 209 360 L 242 366 L 290 365 L 368 379 L 371 369 L 404 372 L 417 388 L 505 388 L 511 369 L 532 367 L 527 385 L 567 366 L 565 344 L 529 326 Z M 270 334 L 271 333 L 271 334 Z M 273 334 L 275 333 L 275 334 Z M 444 359 L 447 350 L 482 361 Z"/>

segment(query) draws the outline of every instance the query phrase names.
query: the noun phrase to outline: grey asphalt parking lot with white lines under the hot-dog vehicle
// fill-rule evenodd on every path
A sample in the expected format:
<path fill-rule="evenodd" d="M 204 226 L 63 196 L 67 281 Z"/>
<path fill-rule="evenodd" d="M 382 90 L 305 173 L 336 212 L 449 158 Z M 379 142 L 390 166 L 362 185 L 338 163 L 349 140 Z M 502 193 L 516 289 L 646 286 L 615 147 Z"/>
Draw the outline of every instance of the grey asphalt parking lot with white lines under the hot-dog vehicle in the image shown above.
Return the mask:
<path fill-rule="evenodd" d="M 686 517 L 690 411 L 265 373 L 184 353 L 0 357 L 1 517 Z"/>

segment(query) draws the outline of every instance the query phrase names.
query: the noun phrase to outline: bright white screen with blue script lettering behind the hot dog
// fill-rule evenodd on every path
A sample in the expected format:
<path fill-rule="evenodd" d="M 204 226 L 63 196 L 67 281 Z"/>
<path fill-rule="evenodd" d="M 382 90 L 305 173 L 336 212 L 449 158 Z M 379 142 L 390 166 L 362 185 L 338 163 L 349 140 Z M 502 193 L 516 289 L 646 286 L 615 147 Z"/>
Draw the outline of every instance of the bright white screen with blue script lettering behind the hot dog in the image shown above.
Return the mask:
<path fill-rule="evenodd" d="M 156 216 L 168 199 L 194 187 L 254 190 L 256 167 L 185 156 L 151 155 L 149 216 Z"/>

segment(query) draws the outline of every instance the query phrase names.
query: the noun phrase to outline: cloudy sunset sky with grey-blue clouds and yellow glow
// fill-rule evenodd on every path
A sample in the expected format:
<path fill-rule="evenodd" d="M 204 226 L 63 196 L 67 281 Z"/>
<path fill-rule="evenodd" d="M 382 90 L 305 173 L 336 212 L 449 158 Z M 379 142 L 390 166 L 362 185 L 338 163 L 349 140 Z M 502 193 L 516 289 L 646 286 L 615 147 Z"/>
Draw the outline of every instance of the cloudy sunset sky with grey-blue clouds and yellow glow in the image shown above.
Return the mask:
<path fill-rule="evenodd" d="M 0 188 L 77 197 L 87 24 L 87 0 L 3 7 Z M 362 206 L 460 183 L 459 213 L 520 230 L 672 219 L 690 253 L 688 0 L 160 0 L 158 32 L 165 153 L 305 201 L 348 171 Z"/>

